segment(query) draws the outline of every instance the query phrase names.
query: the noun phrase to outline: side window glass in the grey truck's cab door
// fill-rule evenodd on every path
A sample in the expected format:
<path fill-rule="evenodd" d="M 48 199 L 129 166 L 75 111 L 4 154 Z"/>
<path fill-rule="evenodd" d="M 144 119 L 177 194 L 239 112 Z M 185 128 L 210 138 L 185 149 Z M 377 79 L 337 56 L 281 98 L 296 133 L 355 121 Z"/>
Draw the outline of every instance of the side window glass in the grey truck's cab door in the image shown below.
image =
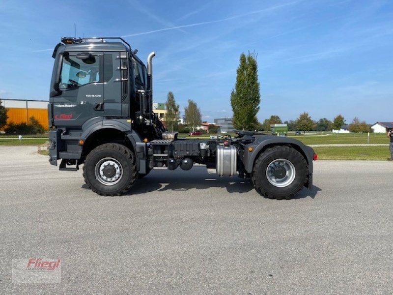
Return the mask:
<path fill-rule="evenodd" d="M 69 89 L 100 81 L 99 56 L 77 59 L 76 56 L 63 58 L 59 89 Z"/>

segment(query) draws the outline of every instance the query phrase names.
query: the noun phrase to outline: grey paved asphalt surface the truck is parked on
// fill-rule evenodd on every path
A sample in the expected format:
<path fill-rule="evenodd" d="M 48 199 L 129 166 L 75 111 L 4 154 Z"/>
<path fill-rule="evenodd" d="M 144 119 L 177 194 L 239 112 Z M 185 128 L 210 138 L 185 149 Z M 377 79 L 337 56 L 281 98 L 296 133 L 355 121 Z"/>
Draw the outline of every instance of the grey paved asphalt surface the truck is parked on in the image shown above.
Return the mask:
<path fill-rule="evenodd" d="M 201 166 L 102 197 L 35 150 L 0 147 L 0 294 L 393 292 L 392 162 L 317 161 L 289 201 Z M 61 258 L 61 283 L 12 284 L 17 258 Z"/>

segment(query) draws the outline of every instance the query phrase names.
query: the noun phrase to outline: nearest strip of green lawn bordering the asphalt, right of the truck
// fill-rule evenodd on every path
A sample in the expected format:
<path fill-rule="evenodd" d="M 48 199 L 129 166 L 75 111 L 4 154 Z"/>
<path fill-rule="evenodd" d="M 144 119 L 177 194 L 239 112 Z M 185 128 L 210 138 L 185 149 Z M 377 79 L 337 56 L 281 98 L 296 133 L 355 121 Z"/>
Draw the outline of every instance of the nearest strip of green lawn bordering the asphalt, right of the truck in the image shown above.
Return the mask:
<path fill-rule="evenodd" d="M 387 160 L 389 147 L 319 147 L 318 160 Z M 393 167 L 393 166 L 392 166 Z"/>

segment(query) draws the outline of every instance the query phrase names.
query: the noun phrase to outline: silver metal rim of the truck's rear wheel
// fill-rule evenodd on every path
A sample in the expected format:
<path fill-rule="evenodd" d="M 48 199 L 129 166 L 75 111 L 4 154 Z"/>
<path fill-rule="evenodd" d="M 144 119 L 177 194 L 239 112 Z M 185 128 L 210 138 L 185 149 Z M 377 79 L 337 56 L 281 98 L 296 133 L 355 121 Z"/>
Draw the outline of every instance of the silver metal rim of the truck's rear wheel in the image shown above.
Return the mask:
<path fill-rule="evenodd" d="M 284 174 L 280 177 L 275 175 L 275 171 L 278 169 L 281 170 L 281 174 Z M 266 177 L 267 180 L 277 187 L 285 187 L 293 182 L 296 176 L 295 166 L 291 161 L 287 159 L 276 159 L 272 161 L 266 168 Z"/>

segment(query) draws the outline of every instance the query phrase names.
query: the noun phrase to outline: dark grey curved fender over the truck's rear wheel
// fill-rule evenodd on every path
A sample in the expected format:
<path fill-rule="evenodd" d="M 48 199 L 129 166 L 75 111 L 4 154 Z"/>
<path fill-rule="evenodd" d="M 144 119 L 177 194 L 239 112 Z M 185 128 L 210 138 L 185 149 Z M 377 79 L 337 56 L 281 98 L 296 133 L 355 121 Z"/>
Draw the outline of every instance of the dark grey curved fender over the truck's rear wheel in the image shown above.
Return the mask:
<path fill-rule="evenodd" d="M 253 143 L 246 145 L 242 159 L 245 170 L 248 173 L 252 173 L 256 157 L 265 148 L 276 145 L 289 145 L 301 152 L 308 163 L 309 174 L 312 174 L 312 160 L 314 157 L 314 150 L 296 139 L 279 136 L 263 136 L 255 140 Z M 249 151 L 249 148 L 252 148 L 252 151 Z"/>

